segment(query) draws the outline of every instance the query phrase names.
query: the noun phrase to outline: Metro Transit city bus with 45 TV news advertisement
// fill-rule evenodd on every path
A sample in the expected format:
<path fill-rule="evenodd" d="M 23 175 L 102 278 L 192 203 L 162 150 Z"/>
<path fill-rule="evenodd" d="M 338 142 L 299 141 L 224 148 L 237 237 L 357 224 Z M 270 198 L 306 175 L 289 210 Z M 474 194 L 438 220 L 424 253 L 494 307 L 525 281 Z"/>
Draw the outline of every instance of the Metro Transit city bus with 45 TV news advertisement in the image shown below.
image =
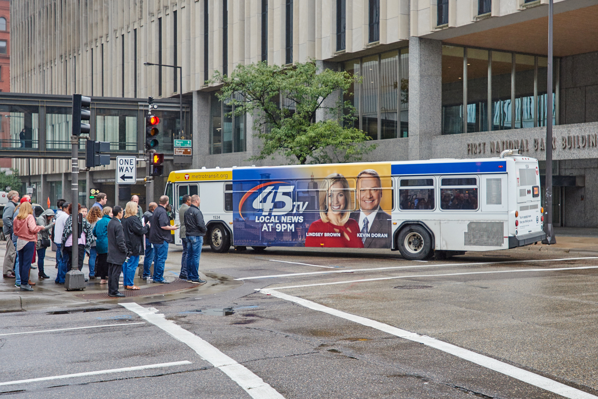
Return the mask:
<path fill-rule="evenodd" d="M 408 260 L 544 239 L 538 160 L 484 159 L 243 166 L 171 172 L 173 223 L 198 194 L 215 252 L 231 246 L 388 248 Z M 181 244 L 178 230 L 175 243 Z"/>

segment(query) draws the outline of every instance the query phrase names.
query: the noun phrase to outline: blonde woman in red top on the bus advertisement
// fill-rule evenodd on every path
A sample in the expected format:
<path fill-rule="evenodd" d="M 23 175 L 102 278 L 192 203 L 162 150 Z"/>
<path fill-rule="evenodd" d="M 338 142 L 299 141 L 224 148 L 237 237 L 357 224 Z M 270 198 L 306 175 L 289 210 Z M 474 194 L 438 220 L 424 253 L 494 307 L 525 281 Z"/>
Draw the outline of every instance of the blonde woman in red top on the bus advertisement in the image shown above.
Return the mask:
<path fill-rule="evenodd" d="M 349 182 L 340 173 L 326 177 L 328 190 L 320 191 L 320 219 L 309 226 L 305 246 L 364 248 L 357 236 L 359 224 L 350 218 Z"/>

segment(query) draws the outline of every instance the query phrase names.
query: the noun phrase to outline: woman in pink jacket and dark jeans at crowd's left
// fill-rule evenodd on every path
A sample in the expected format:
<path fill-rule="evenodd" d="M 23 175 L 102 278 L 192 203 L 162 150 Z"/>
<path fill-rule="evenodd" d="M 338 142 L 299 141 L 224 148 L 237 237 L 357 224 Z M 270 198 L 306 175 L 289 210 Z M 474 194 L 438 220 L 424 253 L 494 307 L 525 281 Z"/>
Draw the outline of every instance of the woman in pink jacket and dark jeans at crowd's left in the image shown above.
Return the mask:
<path fill-rule="evenodd" d="M 21 275 L 21 291 L 33 291 L 28 284 L 29 269 L 35 252 L 35 243 L 37 242 L 37 233 L 44 229 L 44 226 L 38 226 L 33 217 L 33 208 L 29 202 L 23 202 L 19 209 L 19 214 L 14 220 L 14 234 L 17 236 L 17 251 L 19 251 L 19 267 Z"/>

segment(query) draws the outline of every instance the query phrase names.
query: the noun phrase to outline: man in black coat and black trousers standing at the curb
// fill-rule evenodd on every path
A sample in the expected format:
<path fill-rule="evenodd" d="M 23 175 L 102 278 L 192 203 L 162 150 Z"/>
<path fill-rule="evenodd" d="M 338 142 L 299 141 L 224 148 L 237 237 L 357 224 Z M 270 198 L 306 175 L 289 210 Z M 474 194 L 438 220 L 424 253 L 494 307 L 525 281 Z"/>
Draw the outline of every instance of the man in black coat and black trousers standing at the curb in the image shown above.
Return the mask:
<path fill-rule="evenodd" d="M 108 296 L 115 298 L 124 297 L 118 292 L 118 278 L 128 255 L 122 218 L 123 208 L 118 205 L 112 208 L 112 220 L 108 223 Z"/>

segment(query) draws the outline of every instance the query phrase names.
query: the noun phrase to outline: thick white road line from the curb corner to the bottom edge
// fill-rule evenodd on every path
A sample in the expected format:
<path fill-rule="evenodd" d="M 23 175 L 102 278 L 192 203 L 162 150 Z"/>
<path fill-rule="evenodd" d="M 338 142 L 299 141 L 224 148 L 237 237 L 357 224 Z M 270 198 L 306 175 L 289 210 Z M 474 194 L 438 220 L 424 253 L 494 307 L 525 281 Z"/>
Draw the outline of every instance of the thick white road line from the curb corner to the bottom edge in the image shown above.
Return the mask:
<path fill-rule="evenodd" d="M 255 399 L 284 399 L 276 389 L 269 383 L 252 373 L 248 368 L 237 363 L 234 359 L 228 357 L 209 342 L 201 339 L 190 331 L 185 330 L 175 322 L 166 320 L 162 313 L 155 307 L 143 307 L 135 302 L 121 303 L 132 312 L 137 313 L 141 318 L 149 321 L 151 324 L 160 327 L 182 343 L 185 343 L 203 359 L 212 363 L 216 368 L 222 370 L 231 380 Z"/>

